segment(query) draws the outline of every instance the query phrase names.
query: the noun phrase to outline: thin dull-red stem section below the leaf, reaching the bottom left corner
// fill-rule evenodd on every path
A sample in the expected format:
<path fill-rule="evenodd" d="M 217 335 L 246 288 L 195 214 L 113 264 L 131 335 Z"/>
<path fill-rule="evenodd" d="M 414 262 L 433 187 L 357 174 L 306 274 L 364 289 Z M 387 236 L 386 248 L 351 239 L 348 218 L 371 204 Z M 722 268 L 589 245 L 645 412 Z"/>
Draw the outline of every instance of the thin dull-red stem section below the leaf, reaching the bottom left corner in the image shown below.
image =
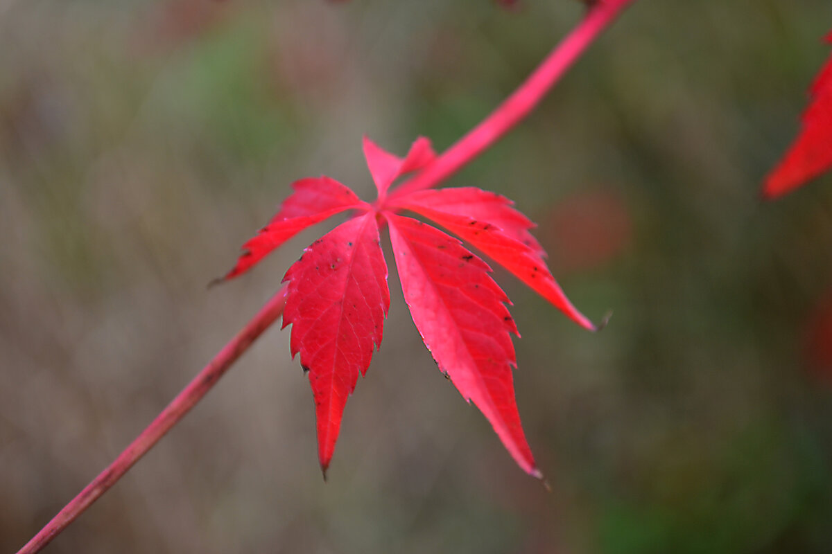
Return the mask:
<path fill-rule="evenodd" d="M 202 397 L 207 394 L 220 377 L 225 374 L 225 371 L 240 358 L 249 346 L 259 337 L 263 331 L 269 328 L 272 323 L 283 313 L 283 308 L 286 305 L 286 289 L 281 288 L 279 292 L 271 297 L 265 306 L 260 308 L 260 311 L 251 318 L 251 320 L 243 327 L 242 331 L 231 339 L 220 352 L 214 356 L 208 365 L 206 365 L 193 380 L 176 395 L 176 398 L 167 404 L 166 408 L 161 411 L 156 419 L 153 419 L 150 425 L 136 437 L 118 455 L 109 466 L 107 466 L 102 473 L 99 473 L 97 478 L 92 480 L 80 493 L 77 494 L 72 501 L 68 503 L 63 509 L 58 512 L 57 516 L 52 517 L 52 521 L 47 523 L 40 532 L 37 533 L 32 540 L 27 542 L 17 554 L 32 554 L 33 552 L 40 552 L 43 547 L 46 547 L 53 538 L 57 537 L 58 533 L 62 532 L 76 517 L 80 516 L 88 507 L 92 505 L 102 494 L 111 488 L 127 473 L 134 463 L 139 461 L 139 458 L 144 456 L 148 450 L 153 448 L 159 439 L 171 430 L 171 428 L 179 423 L 185 414 L 193 408 L 197 402 L 202 400 Z"/>

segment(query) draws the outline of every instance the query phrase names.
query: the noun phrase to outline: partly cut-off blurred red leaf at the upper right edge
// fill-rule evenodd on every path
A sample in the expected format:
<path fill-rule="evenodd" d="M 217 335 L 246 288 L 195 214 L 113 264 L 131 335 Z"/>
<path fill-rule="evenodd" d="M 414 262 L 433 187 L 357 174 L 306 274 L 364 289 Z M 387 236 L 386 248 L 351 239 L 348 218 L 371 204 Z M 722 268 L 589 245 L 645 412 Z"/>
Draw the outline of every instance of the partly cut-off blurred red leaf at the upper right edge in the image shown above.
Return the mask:
<path fill-rule="evenodd" d="M 832 34 L 826 37 L 832 42 Z M 810 87 L 810 105 L 800 132 L 765 178 L 763 196 L 774 199 L 832 168 L 832 57 Z"/>

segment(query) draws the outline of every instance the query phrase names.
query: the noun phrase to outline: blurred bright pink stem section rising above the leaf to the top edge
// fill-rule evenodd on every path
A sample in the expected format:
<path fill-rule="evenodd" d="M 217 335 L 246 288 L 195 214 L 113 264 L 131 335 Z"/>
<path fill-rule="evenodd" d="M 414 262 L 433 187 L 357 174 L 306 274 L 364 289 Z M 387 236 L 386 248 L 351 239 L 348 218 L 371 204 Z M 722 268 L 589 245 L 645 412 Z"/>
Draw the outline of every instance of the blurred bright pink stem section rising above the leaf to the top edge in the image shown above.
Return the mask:
<path fill-rule="evenodd" d="M 592 42 L 635 0 L 595 0 L 586 17 L 557 44 L 511 96 L 432 164 L 390 193 L 390 197 L 430 189 L 448 179 L 525 118 Z"/>

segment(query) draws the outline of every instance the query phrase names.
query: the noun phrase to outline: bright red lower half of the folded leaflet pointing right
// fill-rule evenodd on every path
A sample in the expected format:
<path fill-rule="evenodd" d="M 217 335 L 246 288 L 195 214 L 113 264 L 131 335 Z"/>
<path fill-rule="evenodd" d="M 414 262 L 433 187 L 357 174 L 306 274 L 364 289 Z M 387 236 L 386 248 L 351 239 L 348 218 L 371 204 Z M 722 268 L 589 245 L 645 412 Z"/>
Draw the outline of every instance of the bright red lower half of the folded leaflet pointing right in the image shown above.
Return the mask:
<path fill-rule="evenodd" d="M 397 199 L 396 204 L 400 208 L 409 209 L 439 223 L 459 238 L 473 244 L 474 247 L 508 269 L 509 272 L 512 272 L 533 291 L 546 298 L 547 301 L 552 302 L 572 321 L 590 331 L 596 330 L 592 321 L 578 311 L 569 301 L 560 285 L 555 281 L 555 277 L 552 277 L 552 273 L 549 272 L 542 257 L 532 247 L 513 238 L 512 235 L 517 234 L 516 229 L 515 233 L 507 233 L 488 220 L 483 221 L 470 218 L 467 215 L 444 211 L 446 206 L 441 203 L 441 199 L 448 190 L 453 189 L 438 189 L 408 194 Z M 486 193 L 483 192 L 483 194 Z M 448 196 L 453 198 L 453 194 Z M 440 202 L 433 203 L 432 200 L 434 199 L 440 199 Z"/>

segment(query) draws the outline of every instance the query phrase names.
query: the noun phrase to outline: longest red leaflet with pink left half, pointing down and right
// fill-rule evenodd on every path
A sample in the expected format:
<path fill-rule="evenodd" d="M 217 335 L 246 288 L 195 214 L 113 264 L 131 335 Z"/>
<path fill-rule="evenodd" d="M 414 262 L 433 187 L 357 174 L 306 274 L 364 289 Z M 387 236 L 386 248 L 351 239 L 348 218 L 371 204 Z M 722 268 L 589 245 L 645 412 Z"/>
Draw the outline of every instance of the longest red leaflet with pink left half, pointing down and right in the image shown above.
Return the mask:
<path fill-rule="evenodd" d="M 412 218 L 389 222 L 404 301 L 439 370 L 493 425 L 518 465 L 540 478 L 514 399 L 517 334 L 488 265 L 459 241 Z"/>

